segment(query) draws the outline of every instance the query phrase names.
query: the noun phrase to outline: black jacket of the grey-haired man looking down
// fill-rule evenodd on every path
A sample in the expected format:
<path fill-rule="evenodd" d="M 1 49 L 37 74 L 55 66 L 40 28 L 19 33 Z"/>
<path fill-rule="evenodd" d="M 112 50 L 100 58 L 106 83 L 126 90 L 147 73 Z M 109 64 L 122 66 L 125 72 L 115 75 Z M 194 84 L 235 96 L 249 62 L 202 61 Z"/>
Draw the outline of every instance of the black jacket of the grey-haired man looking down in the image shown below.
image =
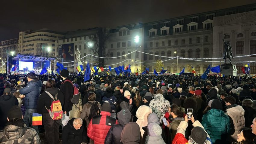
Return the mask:
<path fill-rule="evenodd" d="M 72 118 L 68 121 L 67 125 L 62 129 L 62 143 L 63 144 L 81 144 L 86 141 L 84 134 L 84 126 L 76 130 L 73 126 L 73 121 L 75 118 Z"/>

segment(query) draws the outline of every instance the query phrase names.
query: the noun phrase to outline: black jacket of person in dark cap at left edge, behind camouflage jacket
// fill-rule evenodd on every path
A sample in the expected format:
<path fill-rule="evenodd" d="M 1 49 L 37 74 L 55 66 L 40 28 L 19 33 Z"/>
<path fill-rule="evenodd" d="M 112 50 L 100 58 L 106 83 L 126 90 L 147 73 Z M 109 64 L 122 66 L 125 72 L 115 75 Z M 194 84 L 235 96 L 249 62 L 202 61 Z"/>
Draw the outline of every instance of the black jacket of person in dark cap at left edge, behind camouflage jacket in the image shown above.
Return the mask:
<path fill-rule="evenodd" d="M 19 102 L 16 97 L 10 95 L 3 95 L 0 97 L 0 130 L 5 127 L 7 123 L 7 114 L 12 106 L 18 106 Z"/>

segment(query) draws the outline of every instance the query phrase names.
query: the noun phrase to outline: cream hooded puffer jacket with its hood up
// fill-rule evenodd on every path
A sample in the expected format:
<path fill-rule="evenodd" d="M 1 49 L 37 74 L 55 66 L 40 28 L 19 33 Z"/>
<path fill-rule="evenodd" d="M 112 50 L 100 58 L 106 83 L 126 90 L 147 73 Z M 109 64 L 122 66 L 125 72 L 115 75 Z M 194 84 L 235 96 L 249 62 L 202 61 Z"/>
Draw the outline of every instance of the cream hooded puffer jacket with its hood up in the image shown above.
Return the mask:
<path fill-rule="evenodd" d="M 148 117 L 148 114 L 150 114 L 150 113 L 152 113 L 152 109 L 149 106 L 140 106 L 136 112 L 136 117 L 138 118 L 136 123 L 139 125 L 141 137 L 143 136 L 143 134 L 145 132 L 142 129 L 142 127 L 147 126 L 147 124 L 148 124 L 147 117 Z"/>

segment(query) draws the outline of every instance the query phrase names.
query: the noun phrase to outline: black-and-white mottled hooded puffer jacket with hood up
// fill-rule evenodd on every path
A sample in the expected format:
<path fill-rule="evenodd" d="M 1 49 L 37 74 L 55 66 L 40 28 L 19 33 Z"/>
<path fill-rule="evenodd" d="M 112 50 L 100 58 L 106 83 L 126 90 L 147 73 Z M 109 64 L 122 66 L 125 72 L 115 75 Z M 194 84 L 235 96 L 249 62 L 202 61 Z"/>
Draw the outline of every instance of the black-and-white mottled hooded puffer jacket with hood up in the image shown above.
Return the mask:
<path fill-rule="evenodd" d="M 169 106 L 170 102 L 165 100 L 161 93 L 156 94 L 154 100 L 151 100 L 149 103 L 149 107 L 151 107 L 153 112 L 158 115 L 160 123 L 162 123 L 162 118 L 164 117 L 165 112 L 167 112 Z"/>

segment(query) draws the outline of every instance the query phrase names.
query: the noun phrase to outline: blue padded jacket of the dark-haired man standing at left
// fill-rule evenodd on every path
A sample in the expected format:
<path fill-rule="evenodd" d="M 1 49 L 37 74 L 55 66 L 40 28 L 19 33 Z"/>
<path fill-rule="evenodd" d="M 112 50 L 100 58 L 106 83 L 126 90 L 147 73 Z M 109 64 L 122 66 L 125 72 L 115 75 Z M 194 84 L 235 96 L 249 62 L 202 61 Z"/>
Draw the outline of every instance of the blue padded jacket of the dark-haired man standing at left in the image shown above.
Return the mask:
<path fill-rule="evenodd" d="M 39 79 L 34 79 L 27 83 L 27 86 L 20 89 L 20 94 L 24 94 L 25 98 L 25 108 L 26 109 L 36 109 L 37 101 L 42 88 L 42 81 Z"/>

